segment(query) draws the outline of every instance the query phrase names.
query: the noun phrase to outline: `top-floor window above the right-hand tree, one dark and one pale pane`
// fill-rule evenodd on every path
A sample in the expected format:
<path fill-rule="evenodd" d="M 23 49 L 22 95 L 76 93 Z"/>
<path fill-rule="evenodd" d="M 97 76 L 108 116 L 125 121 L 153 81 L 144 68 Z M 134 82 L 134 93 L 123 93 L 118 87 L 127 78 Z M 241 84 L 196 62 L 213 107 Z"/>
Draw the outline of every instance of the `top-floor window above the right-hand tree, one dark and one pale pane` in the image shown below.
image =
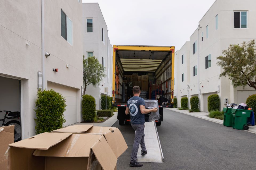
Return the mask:
<path fill-rule="evenodd" d="M 234 28 L 247 28 L 247 12 L 234 12 Z"/>

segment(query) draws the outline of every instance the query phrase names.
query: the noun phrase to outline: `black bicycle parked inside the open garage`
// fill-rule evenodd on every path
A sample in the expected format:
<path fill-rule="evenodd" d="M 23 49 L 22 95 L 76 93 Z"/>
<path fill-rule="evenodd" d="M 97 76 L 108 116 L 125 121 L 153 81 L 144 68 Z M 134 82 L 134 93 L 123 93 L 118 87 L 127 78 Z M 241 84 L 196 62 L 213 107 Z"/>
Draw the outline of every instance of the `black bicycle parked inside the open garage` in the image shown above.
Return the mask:
<path fill-rule="evenodd" d="M 14 125 L 14 142 L 20 141 L 21 140 L 21 122 L 17 120 L 11 120 L 5 123 L 5 119 L 16 119 L 16 118 L 19 119 L 19 117 L 21 117 L 21 113 L 11 112 L 11 111 L 0 111 L 0 112 L 5 112 L 5 117 L 3 119 L 0 119 L 0 121 L 3 121 L 2 126 Z"/>

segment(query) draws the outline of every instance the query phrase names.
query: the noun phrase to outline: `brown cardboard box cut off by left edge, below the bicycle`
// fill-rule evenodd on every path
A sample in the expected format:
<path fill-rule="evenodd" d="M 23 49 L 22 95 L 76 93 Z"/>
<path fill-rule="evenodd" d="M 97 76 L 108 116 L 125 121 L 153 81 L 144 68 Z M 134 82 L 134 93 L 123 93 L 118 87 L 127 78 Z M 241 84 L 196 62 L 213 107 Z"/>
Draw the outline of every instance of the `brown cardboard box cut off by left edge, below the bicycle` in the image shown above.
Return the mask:
<path fill-rule="evenodd" d="M 0 168 L 7 170 L 5 152 L 8 145 L 14 142 L 14 125 L 0 127 Z"/>

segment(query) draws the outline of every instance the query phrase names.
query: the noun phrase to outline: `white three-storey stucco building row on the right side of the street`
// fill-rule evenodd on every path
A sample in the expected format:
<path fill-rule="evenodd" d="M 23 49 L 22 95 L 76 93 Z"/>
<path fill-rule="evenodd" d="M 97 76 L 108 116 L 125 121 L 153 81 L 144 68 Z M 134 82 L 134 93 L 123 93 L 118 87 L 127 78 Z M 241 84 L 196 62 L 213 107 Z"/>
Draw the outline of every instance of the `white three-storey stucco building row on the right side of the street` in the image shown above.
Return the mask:
<path fill-rule="evenodd" d="M 255 17 L 256 1 L 216 0 L 214 2 L 199 21 L 199 31 L 195 28 L 195 32 L 191 35 L 189 47 L 186 46 L 188 43 L 186 42 L 176 52 L 174 94 L 177 96 L 178 107 L 181 97 L 187 96 L 190 99 L 192 96 L 198 96 L 198 92 L 200 111 L 203 112 L 208 112 L 207 97 L 211 94 L 220 96 L 220 109 L 222 109 L 226 107 L 225 99 L 228 103 L 245 103 L 249 95 L 256 93 L 250 87 L 234 88 L 227 77 L 219 78 L 222 69 L 217 66 L 217 57 L 221 56 L 222 51 L 230 44 L 241 44 L 243 41 L 256 39 Z M 189 55 L 185 55 L 185 64 L 181 64 L 182 55 L 186 52 L 189 52 Z M 188 58 L 189 64 L 186 62 Z M 187 75 L 185 74 L 185 81 L 182 82 L 183 73 Z"/>

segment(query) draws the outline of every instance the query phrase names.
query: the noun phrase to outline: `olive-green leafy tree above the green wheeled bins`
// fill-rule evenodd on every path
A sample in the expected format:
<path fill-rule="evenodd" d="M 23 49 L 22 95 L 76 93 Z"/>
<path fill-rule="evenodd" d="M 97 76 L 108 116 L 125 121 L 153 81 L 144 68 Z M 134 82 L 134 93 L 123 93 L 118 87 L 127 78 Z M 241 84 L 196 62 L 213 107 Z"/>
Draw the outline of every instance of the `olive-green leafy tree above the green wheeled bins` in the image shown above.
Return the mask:
<path fill-rule="evenodd" d="M 217 65 L 223 69 L 219 77 L 229 76 L 234 87 L 248 85 L 256 90 L 255 40 L 231 44 L 222 54 L 224 56 L 217 57 Z"/>

